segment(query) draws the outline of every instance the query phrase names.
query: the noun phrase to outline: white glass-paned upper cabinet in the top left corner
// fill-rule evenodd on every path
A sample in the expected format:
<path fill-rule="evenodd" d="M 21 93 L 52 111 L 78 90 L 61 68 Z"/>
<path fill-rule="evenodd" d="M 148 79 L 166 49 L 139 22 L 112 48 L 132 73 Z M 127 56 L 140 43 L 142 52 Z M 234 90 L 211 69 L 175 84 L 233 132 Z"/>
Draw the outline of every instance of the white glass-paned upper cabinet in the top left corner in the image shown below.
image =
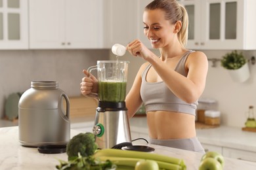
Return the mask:
<path fill-rule="evenodd" d="M 28 1 L 0 0 L 0 50 L 28 49 Z"/>

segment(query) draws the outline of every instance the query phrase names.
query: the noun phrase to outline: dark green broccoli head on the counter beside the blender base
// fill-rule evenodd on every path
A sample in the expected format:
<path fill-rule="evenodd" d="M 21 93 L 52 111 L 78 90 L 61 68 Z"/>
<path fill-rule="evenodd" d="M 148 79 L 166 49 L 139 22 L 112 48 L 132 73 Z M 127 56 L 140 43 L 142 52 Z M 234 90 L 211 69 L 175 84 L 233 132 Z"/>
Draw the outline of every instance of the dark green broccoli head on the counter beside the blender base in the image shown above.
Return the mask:
<path fill-rule="evenodd" d="M 79 133 L 72 137 L 69 141 L 66 152 L 68 154 L 68 160 L 72 160 L 78 156 L 78 152 L 83 157 L 91 156 L 95 153 L 98 145 L 95 143 L 95 135 L 93 133 Z"/>

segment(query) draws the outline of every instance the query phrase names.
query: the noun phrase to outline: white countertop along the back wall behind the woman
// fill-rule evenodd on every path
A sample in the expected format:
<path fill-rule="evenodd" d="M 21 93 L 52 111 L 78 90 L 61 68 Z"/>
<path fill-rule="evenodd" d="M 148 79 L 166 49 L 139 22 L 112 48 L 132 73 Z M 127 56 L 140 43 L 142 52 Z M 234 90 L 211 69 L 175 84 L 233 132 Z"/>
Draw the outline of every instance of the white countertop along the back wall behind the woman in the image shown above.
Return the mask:
<path fill-rule="evenodd" d="M 131 131 L 148 133 L 144 117 L 131 118 L 130 126 Z M 196 129 L 196 133 L 201 143 L 256 152 L 256 133 L 242 131 L 240 127 L 219 126 L 211 129 Z"/>

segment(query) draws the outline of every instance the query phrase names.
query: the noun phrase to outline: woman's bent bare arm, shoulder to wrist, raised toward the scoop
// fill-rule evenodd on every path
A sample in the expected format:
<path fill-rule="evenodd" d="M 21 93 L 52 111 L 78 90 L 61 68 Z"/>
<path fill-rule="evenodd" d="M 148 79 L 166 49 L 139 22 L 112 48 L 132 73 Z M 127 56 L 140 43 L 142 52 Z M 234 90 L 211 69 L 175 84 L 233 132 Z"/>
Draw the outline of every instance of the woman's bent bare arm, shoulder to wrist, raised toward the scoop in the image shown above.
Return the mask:
<path fill-rule="evenodd" d="M 169 65 L 159 58 L 150 58 L 149 62 L 168 88 L 183 101 L 192 103 L 202 95 L 208 70 L 207 57 L 203 52 L 192 52 L 188 56 L 185 64 L 187 77 L 169 69 Z"/>

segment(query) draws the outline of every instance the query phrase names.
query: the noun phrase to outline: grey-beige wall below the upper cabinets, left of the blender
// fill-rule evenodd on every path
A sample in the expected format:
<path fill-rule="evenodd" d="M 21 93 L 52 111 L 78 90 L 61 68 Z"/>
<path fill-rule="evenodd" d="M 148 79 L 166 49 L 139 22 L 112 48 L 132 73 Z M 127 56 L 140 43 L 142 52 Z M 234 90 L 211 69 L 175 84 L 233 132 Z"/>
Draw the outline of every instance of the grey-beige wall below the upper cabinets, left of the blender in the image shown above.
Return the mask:
<path fill-rule="evenodd" d="M 108 59 L 108 50 L 0 50 L 0 118 L 9 94 L 25 92 L 33 80 L 58 81 L 68 96 L 80 95 L 83 69 Z"/>

